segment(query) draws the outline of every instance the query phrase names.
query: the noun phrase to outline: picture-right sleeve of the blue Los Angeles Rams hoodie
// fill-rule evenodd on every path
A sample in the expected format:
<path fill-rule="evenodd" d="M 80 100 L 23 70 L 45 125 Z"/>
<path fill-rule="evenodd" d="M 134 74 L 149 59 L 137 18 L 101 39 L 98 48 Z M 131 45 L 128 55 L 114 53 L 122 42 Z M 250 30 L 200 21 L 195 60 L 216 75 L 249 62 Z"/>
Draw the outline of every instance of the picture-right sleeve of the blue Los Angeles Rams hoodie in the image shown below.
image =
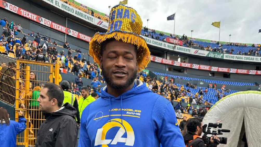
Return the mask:
<path fill-rule="evenodd" d="M 152 119 L 156 123 L 157 135 L 162 147 L 185 147 L 175 111 L 166 98 L 159 97 L 157 99 Z"/>

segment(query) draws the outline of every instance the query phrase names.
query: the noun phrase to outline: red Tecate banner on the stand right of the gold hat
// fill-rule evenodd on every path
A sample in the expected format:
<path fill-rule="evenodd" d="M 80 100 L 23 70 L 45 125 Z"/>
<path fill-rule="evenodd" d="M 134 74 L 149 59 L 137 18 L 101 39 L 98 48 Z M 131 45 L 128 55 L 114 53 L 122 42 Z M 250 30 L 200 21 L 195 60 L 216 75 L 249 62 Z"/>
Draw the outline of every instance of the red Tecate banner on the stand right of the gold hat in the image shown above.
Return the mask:
<path fill-rule="evenodd" d="M 181 66 L 181 67 L 186 67 L 186 68 L 194 68 L 194 69 L 200 69 L 200 70 L 209 70 L 209 71 L 224 72 L 224 73 L 261 75 L 261 70 L 222 68 L 222 67 L 214 67 L 214 66 L 208 66 L 208 65 L 191 64 L 191 63 L 167 60 L 167 59 L 157 57 L 157 56 L 151 56 L 150 60 L 154 61 L 154 62 L 163 63 L 163 64 Z"/>

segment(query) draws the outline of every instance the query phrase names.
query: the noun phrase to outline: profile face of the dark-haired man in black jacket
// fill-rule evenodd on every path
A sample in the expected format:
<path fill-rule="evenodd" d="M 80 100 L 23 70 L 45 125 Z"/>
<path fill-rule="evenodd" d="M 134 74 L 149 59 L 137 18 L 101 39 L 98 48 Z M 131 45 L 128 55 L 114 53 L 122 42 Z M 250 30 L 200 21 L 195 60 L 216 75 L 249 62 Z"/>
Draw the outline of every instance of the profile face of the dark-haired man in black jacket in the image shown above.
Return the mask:
<path fill-rule="evenodd" d="M 43 112 L 48 113 L 52 106 L 54 105 L 53 101 L 49 101 L 49 97 L 47 96 L 48 88 L 43 88 L 40 92 L 40 96 L 37 101 L 39 102 L 39 109 Z"/>

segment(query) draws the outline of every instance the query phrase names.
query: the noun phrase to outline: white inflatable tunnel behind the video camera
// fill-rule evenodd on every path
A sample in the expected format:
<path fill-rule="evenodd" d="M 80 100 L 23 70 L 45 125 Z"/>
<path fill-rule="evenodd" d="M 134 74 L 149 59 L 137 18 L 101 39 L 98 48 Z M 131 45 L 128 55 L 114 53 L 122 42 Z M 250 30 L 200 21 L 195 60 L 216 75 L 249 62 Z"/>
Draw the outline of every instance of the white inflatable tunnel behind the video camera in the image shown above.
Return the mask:
<path fill-rule="evenodd" d="M 261 147 L 261 92 L 242 91 L 219 100 L 207 112 L 203 124 L 221 121 L 227 144 L 219 147 L 244 147 L 246 138 L 248 147 Z M 245 136 L 245 137 L 243 137 Z"/>

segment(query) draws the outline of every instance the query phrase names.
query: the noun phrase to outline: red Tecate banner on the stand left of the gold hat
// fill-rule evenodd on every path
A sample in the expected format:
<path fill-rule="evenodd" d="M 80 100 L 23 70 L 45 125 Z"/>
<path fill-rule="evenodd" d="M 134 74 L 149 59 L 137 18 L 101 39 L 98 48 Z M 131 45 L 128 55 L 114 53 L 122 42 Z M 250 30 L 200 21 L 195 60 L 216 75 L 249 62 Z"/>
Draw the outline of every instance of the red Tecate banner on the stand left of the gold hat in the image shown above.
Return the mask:
<path fill-rule="evenodd" d="M 70 28 L 67 28 L 65 26 L 59 25 L 59 24 L 57 24 L 55 22 L 52 22 L 52 21 L 50 21 L 48 19 L 45 19 L 44 17 L 38 16 L 36 14 L 33 14 L 33 13 L 29 12 L 29 11 L 21 9 L 21 8 L 15 6 L 13 4 L 10 4 L 8 2 L 5 2 L 3 0 L 0 0 L 0 7 L 4 8 L 4 9 L 7 9 L 9 11 L 12 11 L 12 12 L 14 12 L 16 14 L 19 14 L 19 15 L 21 15 L 23 17 L 26 17 L 26 18 L 28 18 L 30 20 L 33 20 L 35 22 L 41 23 L 41 24 L 43 24 L 45 26 L 48 26 L 50 28 L 53 28 L 53 29 L 55 29 L 57 31 L 63 32 L 65 34 L 71 35 L 71 36 L 79 38 L 79 39 L 82 39 L 84 41 L 90 42 L 91 39 L 92 39 L 92 37 L 90 37 L 90 36 L 87 36 L 87 35 L 82 34 L 80 32 L 74 31 L 74 30 L 72 30 Z"/>

